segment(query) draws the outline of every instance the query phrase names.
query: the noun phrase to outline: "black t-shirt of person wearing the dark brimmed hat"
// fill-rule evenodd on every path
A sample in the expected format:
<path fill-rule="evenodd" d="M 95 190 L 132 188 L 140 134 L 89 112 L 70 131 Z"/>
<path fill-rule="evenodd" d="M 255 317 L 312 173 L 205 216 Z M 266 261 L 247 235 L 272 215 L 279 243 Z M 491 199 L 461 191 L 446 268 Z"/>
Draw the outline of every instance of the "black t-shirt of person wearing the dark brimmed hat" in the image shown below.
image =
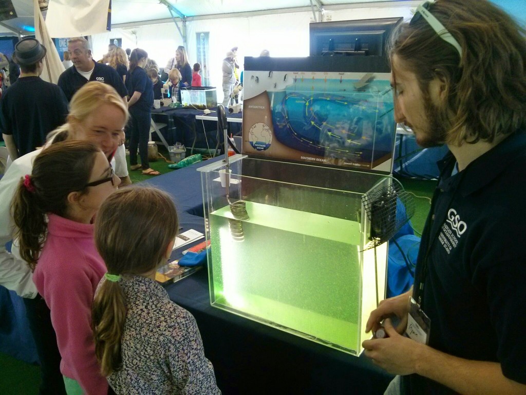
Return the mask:
<path fill-rule="evenodd" d="M 66 122 L 66 96 L 40 77 L 22 77 L 0 101 L 0 130 L 13 135 L 19 156 L 44 145 L 46 135 Z"/>

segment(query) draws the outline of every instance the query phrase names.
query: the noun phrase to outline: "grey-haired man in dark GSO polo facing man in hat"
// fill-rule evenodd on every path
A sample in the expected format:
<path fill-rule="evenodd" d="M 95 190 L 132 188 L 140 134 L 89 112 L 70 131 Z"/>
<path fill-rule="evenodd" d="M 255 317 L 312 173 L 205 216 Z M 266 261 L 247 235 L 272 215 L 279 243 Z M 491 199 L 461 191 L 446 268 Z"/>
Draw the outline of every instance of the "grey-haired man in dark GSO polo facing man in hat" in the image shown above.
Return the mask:
<path fill-rule="evenodd" d="M 89 43 L 84 37 L 70 38 L 67 42 L 67 50 L 69 51 L 73 66 L 60 74 L 60 77 L 58 77 L 58 86 L 62 88 L 68 101 L 89 81 L 99 81 L 113 86 L 119 96 L 123 98 L 123 102 L 128 105 L 128 91 L 124 86 L 123 79 L 113 67 L 97 63 L 93 60 Z M 131 184 L 124 145 L 119 146 L 117 151 L 115 151 L 115 162 L 115 173 L 123 182 L 123 185 Z"/>

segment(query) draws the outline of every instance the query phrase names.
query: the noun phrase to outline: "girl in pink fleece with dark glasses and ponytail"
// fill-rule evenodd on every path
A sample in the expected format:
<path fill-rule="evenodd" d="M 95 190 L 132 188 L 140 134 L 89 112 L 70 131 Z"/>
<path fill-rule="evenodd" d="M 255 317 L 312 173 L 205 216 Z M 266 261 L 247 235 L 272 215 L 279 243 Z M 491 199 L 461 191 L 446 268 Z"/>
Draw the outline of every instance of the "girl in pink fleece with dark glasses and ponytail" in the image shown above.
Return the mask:
<path fill-rule="evenodd" d="M 13 197 L 19 252 L 51 312 L 68 395 L 108 393 L 91 327 L 95 289 L 106 271 L 93 219 L 119 184 L 96 145 L 69 140 L 38 154 Z"/>

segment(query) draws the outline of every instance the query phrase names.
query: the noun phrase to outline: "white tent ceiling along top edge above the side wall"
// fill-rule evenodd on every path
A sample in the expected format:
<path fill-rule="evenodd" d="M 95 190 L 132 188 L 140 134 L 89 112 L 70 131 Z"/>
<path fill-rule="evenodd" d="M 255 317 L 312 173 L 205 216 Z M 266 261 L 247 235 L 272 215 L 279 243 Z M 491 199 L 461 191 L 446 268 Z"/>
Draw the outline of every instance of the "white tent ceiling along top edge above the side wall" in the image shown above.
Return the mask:
<path fill-rule="evenodd" d="M 33 0 L 12 0 L 17 18 L 0 22 L 0 34 L 33 34 Z M 53 1 L 53 0 L 50 0 Z M 76 0 L 71 0 L 72 3 Z M 356 6 L 360 3 L 388 3 L 400 0 L 112 0 L 112 26 L 141 25 L 144 22 L 163 21 L 171 18 L 171 6 L 176 20 L 213 18 L 221 16 L 246 16 L 313 9 L 319 17 L 320 9 Z M 406 1 L 406 3 L 411 3 Z"/>

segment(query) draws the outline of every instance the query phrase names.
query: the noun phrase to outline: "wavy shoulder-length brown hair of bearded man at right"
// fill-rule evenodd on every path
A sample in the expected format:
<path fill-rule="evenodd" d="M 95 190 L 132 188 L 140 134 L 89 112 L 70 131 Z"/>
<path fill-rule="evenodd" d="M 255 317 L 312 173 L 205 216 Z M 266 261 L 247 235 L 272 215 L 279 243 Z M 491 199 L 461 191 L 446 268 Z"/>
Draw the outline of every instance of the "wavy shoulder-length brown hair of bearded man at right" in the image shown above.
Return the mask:
<path fill-rule="evenodd" d="M 487 0 L 438 0 L 433 14 L 459 42 L 462 56 L 423 17 L 400 24 L 388 47 L 416 74 L 424 100 L 434 78 L 446 82 L 437 120 L 446 143 L 493 142 L 526 127 L 526 31 Z M 396 72 L 396 70 L 395 70 Z"/>

